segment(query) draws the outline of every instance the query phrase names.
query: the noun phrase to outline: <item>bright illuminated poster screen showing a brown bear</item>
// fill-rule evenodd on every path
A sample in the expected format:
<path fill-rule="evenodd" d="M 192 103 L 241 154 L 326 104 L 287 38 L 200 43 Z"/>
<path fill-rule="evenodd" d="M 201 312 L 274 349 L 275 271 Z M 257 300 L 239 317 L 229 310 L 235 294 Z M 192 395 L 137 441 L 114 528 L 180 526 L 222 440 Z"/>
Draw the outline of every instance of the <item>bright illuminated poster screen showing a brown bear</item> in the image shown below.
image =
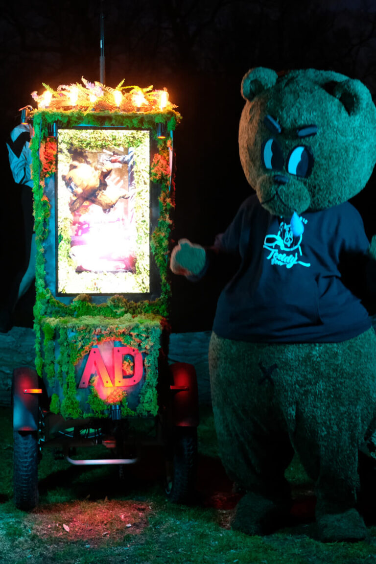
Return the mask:
<path fill-rule="evenodd" d="M 149 293 L 149 130 L 57 139 L 57 295 Z"/>

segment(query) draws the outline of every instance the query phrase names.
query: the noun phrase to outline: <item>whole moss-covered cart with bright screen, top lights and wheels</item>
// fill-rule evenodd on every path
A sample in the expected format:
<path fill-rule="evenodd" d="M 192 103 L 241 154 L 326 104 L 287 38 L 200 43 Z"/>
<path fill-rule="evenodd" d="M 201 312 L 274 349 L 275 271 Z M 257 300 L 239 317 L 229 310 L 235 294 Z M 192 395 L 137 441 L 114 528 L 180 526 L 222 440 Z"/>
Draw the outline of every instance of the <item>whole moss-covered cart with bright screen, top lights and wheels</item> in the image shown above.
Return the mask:
<path fill-rule="evenodd" d="M 72 464 L 124 468 L 143 444 L 162 447 L 166 493 L 184 502 L 196 474 L 197 382 L 191 365 L 167 363 L 180 116 L 164 91 L 85 81 L 69 101 L 73 86 L 47 88 L 30 114 L 36 369 L 14 371 L 15 503 L 37 504 L 45 448 Z M 99 456 L 79 457 L 87 446 Z"/>

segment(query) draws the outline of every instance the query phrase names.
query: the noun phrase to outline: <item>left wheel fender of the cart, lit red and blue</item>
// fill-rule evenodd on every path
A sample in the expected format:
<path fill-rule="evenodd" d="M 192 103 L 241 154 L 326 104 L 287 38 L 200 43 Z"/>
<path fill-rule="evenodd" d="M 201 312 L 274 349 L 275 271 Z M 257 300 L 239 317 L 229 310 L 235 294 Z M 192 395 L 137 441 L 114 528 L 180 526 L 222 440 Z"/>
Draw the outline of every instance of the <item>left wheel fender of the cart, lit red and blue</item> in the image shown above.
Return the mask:
<path fill-rule="evenodd" d="M 38 389 L 41 380 L 32 368 L 22 366 L 13 371 L 12 404 L 13 429 L 37 431 L 39 420 L 39 394 L 25 394 L 26 389 Z"/>

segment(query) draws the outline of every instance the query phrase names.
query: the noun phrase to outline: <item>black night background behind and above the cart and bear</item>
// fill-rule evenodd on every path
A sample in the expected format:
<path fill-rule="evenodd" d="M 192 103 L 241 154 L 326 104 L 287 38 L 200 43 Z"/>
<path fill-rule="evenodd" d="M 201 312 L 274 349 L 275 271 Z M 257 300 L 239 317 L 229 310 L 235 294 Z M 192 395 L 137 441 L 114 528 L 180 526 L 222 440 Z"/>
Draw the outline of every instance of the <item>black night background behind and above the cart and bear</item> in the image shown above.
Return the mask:
<path fill-rule="evenodd" d="M 82 76 L 99 80 L 100 5 L 100 0 L 8 1 L 2 7 L 2 270 L 9 280 L 22 255 L 22 236 L 5 141 L 19 118 L 17 109 L 33 103 L 30 92 L 41 93 L 42 82 L 56 88 Z M 116 87 L 125 78 L 125 85 L 167 87 L 183 115 L 175 135 L 176 240 L 212 244 L 250 193 L 237 147 L 240 83 L 249 68 L 331 69 L 359 78 L 375 99 L 374 0 L 107 0 L 103 5 L 105 83 Z M 376 232 L 370 205 L 374 184 L 375 174 L 352 201 L 369 237 Z M 210 329 L 218 284 L 213 289 L 213 280 L 193 285 L 175 277 L 172 290 L 172 330 Z"/>

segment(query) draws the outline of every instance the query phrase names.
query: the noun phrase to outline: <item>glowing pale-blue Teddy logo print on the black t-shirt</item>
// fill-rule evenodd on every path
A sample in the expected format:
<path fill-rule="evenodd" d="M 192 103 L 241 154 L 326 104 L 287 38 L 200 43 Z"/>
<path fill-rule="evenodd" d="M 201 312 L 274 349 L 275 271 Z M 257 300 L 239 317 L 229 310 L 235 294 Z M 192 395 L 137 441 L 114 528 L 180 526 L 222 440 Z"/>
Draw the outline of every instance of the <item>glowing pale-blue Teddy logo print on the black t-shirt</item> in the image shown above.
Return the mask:
<path fill-rule="evenodd" d="M 302 221 L 307 223 L 304 218 L 302 218 Z M 270 251 L 266 258 L 271 261 L 272 265 L 285 266 L 286 268 L 292 268 L 294 265 L 309 267 L 311 263 L 299 261 L 299 257 L 303 255 L 300 247 L 302 240 L 303 234 L 297 238 L 297 241 L 294 241 L 290 224 L 281 221 L 277 235 L 265 237 L 264 249 Z"/>

